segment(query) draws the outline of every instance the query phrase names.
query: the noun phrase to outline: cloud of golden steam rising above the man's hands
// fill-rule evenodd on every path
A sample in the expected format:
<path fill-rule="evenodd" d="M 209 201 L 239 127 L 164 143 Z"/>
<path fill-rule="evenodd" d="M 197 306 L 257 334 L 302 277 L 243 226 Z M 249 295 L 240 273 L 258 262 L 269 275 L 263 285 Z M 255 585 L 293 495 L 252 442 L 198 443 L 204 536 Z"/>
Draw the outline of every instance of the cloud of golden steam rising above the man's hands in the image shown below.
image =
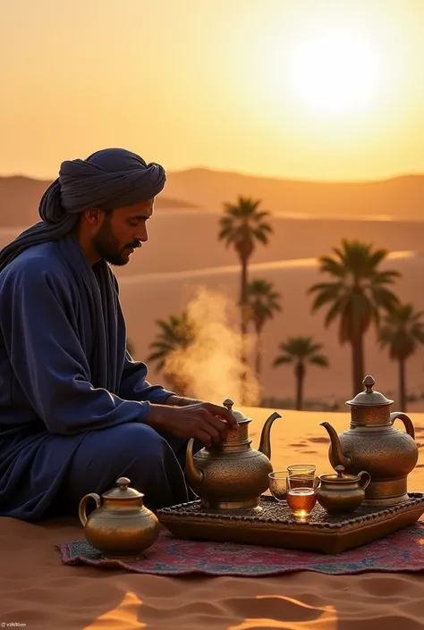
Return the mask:
<path fill-rule="evenodd" d="M 244 402 L 254 407 L 259 404 L 259 382 L 250 366 L 242 364 L 241 335 L 230 323 L 232 307 L 223 294 L 199 288 L 187 307 L 194 340 L 168 357 L 165 372 L 189 383 L 190 396 L 218 405 L 231 398 L 234 407 L 242 402 L 242 374 L 247 373 Z M 250 345 L 248 338 L 248 352 Z"/>

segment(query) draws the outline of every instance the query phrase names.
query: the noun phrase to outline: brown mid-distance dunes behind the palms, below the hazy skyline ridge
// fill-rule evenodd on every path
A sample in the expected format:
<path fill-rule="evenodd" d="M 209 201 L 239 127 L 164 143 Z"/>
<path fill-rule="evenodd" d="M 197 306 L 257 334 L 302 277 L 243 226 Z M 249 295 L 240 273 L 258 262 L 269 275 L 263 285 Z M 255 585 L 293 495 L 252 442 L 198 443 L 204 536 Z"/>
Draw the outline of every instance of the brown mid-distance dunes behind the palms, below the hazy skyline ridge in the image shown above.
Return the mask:
<path fill-rule="evenodd" d="M 230 304 L 239 294 L 240 271 L 231 250 L 217 241 L 219 214 L 192 210 L 157 210 L 149 222 L 149 241 L 137 250 L 124 267 L 114 267 L 121 282 L 121 296 L 128 330 L 137 357 L 148 356 L 148 344 L 157 332 L 154 320 L 181 312 L 196 295 L 197 288 L 222 291 Z M 344 237 L 360 238 L 385 247 L 391 252 L 385 264 L 399 269 L 402 280 L 396 291 L 403 300 L 424 309 L 421 278 L 424 272 L 424 223 L 347 222 L 335 220 L 300 221 L 273 218 L 275 234 L 267 248 L 258 248 L 250 265 L 251 278 L 273 281 L 283 296 L 284 312 L 267 324 L 264 340 L 264 394 L 286 399 L 293 397 L 294 383 L 290 367 L 271 368 L 276 347 L 290 335 L 312 335 L 325 345 L 331 370 L 311 367 L 306 380 L 306 396 L 313 399 L 351 397 L 351 353 L 337 342 L 336 326 L 324 329 L 324 313 L 310 315 L 311 298 L 306 291 L 316 281 L 316 256 L 331 253 Z M 13 239 L 18 229 L 2 229 L 0 246 Z M 407 257 L 404 252 L 406 252 Z M 409 255 L 408 252 L 415 252 Z M 233 320 L 235 322 L 235 320 Z M 386 352 L 376 348 L 375 335 L 366 340 L 366 369 L 385 391 L 397 396 L 397 366 L 388 361 Z M 407 366 L 410 391 L 424 391 L 423 350 Z M 155 374 L 151 366 L 151 378 Z M 380 385 L 382 387 L 382 385 Z M 225 397 L 229 395 L 225 394 Z M 387 394 L 389 395 L 389 394 Z M 413 404 L 424 409 L 421 402 Z"/>

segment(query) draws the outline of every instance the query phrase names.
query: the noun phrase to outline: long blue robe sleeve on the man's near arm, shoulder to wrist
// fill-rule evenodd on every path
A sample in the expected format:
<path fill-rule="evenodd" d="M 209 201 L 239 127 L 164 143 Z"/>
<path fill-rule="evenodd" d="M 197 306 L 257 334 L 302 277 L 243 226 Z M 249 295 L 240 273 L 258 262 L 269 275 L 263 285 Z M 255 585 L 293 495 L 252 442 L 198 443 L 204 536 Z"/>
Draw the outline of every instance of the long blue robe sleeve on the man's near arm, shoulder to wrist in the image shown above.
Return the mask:
<path fill-rule="evenodd" d="M 50 433 L 72 435 L 143 422 L 148 400 L 125 400 L 90 382 L 89 363 L 76 334 L 75 290 L 50 261 L 5 270 L 0 326 L 13 373 Z M 73 297 L 72 297 L 73 296 Z"/>

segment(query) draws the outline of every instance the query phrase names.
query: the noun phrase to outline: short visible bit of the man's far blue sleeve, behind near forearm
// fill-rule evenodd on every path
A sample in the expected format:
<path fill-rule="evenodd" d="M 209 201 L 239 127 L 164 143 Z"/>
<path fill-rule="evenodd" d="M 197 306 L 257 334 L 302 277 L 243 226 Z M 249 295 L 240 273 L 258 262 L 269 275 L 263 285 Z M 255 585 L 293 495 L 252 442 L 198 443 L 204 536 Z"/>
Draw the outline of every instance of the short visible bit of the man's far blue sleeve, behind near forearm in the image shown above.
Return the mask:
<path fill-rule="evenodd" d="M 126 352 L 119 395 L 126 400 L 148 400 L 161 405 L 175 393 L 165 390 L 162 385 L 150 385 L 146 380 L 147 375 L 147 365 L 141 361 L 133 361 L 129 352 Z"/>

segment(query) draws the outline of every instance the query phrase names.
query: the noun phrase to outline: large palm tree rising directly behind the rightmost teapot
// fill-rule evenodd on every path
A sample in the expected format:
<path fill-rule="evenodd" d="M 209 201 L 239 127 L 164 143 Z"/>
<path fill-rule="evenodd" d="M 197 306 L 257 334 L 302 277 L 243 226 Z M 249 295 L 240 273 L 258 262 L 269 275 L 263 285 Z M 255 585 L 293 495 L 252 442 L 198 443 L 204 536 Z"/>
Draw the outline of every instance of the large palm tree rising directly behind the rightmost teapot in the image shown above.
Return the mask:
<path fill-rule="evenodd" d="M 364 372 L 363 337 L 374 322 L 378 326 L 382 311 L 390 313 L 398 303 L 388 288 L 400 273 L 379 271 L 378 265 L 386 258 L 386 249 L 372 249 L 359 240 L 342 240 L 341 248 L 333 249 L 335 256 L 320 256 L 319 270 L 335 281 L 321 282 L 310 287 L 317 294 L 312 312 L 328 305 L 325 325 L 339 318 L 339 340 L 352 346 L 353 395 L 362 388 Z"/>

